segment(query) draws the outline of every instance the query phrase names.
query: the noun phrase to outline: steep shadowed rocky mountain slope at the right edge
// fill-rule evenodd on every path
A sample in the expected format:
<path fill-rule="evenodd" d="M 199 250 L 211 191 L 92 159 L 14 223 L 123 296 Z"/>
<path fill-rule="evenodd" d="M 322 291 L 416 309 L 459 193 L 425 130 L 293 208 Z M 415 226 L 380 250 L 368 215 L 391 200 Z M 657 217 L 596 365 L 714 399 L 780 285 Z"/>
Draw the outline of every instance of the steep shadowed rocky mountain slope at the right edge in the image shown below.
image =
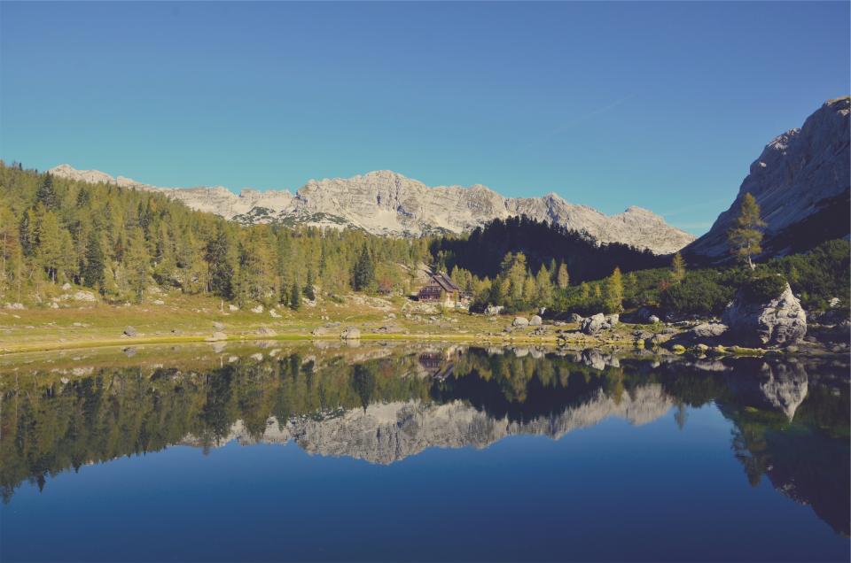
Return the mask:
<path fill-rule="evenodd" d="M 762 245 L 766 256 L 806 251 L 825 240 L 847 236 L 851 232 L 849 106 L 847 96 L 829 100 L 803 127 L 767 144 L 753 161 L 730 209 L 683 253 L 697 261 L 726 259 L 727 231 L 746 193 L 756 198 L 768 223 Z"/>

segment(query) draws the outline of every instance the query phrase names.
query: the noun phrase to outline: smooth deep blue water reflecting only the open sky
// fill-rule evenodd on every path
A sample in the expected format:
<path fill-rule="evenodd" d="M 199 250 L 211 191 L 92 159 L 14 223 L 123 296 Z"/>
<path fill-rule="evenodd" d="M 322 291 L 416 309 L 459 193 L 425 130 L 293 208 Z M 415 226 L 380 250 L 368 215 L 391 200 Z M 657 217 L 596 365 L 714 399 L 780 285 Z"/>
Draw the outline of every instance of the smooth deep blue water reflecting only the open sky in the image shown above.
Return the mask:
<path fill-rule="evenodd" d="M 21 483 L 0 508 L 0 559 L 848 559 L 810 505 L 749 484 L 714 402 L 677 413 L 386 465 L 293 440 L 125 455 Z"/>

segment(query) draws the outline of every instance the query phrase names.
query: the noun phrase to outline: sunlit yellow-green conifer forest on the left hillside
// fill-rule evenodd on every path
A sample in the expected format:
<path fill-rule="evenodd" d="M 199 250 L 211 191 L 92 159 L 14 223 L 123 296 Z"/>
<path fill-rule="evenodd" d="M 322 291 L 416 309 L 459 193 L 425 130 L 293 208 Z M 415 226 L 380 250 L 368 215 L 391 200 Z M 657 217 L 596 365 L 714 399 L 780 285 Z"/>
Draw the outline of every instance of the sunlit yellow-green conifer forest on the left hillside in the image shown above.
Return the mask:
<path fill-rule="evenodd" d="M 240 304 L 321 289 L 405 290 L 426 241 L 347 229 L 240 226 L 160 194 L 39 174 L 0 161 L 0 295 L 42 300 L 71 282 L 113 302 L 152 285 Z"/>

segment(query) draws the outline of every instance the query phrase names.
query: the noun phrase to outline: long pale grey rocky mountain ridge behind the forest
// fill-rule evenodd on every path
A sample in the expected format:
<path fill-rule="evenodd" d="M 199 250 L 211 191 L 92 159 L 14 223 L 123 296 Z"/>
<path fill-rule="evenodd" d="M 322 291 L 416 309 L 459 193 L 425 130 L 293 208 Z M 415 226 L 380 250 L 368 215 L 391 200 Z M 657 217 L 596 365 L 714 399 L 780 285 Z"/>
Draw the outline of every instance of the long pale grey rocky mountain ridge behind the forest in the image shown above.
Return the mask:
<path fill-rule="evenodd" d="M 134 189 L 160 191 L 192 209 L 213 212 L 242 223 L 282 222 L 324 227 L 353 226 L 375 235 L 460 233 L 490 220 L 525 214 L 585 233 L 597 243 L 625 243 L 657 254 L 678 251 L 694 236 L 673 228 L 652 212 L 629 207 L 606 216 L 566 202 L 554 193 L 544 197 L 503 197 L 482 185 L 429 188 L 387 170 L 352 178 L 308 181 L 294 195 L 288 191 L 222 187 L 158 188 L 123 176 L 60 165 L 51 173 L 83 181 L 104 181 Z"/>

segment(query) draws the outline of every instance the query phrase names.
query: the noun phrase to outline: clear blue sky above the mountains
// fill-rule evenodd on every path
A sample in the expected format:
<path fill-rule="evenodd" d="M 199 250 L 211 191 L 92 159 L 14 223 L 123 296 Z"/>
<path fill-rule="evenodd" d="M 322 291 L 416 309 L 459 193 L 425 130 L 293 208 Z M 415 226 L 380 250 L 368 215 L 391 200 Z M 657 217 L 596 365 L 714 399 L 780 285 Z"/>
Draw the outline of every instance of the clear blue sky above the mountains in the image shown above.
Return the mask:
<path fill-rule="evenodd" d="M 429 185 L 699 234 L 849 91 L 849 4 L 0 4 L 0 157 L 165 186 Z"/>

